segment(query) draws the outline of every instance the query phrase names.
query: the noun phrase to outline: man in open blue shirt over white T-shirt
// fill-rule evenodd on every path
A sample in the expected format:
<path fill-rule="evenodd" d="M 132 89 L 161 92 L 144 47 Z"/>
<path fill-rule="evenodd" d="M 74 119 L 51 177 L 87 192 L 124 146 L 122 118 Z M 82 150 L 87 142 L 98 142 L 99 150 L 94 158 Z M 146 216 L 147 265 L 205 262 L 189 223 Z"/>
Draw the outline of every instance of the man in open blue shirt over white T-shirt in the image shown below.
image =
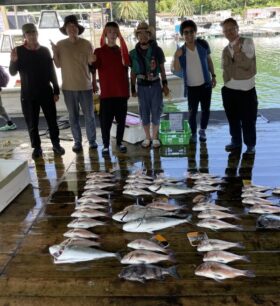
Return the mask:
<path fill-rule="evenodd" d="M 206 141 L 212 88 L 216 86 L 214 65 L 207 41 L 197 38 L 197 25 L 185 20 L 180 25 L 180 34 L 185 43 L 174 54 L 174 74 L 184 80 L 184 96 L 188 97 L 189 124 L 192 131 L 191 141 L 197 141 L 196 116 L 201 107 L 199 140 Z"/>

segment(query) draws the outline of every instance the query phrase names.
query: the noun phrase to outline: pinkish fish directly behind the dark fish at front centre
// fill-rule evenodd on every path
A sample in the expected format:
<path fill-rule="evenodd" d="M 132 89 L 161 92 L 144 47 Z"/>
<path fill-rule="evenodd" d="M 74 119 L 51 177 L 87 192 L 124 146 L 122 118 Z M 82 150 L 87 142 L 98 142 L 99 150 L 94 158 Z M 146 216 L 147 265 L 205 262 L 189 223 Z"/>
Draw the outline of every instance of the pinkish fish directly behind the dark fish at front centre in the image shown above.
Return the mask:
<path fill-rule="evenodd" d="M 137 265 L 142 263 L 152 264 L 166 260 L 175 262 L 175 259 L 173 258 L 172 254 L 165 255 L 147 250 L 135 250 L 126 254 L 121 259 L 121 263 L 124 265 L 131 265 L 131 264 Z"/>

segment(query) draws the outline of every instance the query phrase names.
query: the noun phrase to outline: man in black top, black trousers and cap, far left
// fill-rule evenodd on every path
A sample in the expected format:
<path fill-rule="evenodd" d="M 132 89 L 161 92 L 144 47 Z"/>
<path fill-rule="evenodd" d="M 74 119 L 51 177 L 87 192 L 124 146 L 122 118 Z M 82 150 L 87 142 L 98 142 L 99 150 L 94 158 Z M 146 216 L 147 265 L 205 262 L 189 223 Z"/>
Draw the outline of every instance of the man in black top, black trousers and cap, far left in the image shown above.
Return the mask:
<path fill-rule="evenodd" d="M 34 148 L 32 157 L 42 156 L 38 130 L 40 108 L 49 127 L 53 151 L 63 155 L 65 150 L 59 144 L 55 106 L 59 99 L 59 87 L 50 51 L 39 45 L 38 31 L 33 23 L 24 24 L 22 33 L 24 44 L 12 50 L 9 70 L 11 75 L 20 74 L 21 106 Z"/>

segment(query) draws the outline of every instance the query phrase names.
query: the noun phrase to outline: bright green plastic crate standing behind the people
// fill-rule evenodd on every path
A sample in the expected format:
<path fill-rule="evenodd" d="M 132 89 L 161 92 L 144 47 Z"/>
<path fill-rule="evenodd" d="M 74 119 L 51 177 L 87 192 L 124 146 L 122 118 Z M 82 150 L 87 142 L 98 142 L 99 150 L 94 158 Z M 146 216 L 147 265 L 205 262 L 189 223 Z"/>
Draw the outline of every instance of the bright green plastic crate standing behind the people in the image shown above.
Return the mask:
<path fill-rule="evenodd" d="M 191 130 L 187 120 L 183 122 L 183 131 L 171 131 L 169 120 L 161 120 L 159 127 L 159 139 L 164 146 L 188 145 L 191 137 Z"/>

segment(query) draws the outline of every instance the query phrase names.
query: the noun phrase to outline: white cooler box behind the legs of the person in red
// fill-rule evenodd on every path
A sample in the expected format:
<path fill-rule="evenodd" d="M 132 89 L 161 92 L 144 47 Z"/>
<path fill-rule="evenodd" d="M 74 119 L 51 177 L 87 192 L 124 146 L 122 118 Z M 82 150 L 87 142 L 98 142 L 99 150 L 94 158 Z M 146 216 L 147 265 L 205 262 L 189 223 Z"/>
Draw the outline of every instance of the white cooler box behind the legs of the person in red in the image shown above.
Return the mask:
<path fill-rule="evenodd" d="M 116 137 L 117 124 L 112 124 L 111 135 Z M 135 144 L 146 138 L 139 115 L 127 113 L 123 140 Z"/>

